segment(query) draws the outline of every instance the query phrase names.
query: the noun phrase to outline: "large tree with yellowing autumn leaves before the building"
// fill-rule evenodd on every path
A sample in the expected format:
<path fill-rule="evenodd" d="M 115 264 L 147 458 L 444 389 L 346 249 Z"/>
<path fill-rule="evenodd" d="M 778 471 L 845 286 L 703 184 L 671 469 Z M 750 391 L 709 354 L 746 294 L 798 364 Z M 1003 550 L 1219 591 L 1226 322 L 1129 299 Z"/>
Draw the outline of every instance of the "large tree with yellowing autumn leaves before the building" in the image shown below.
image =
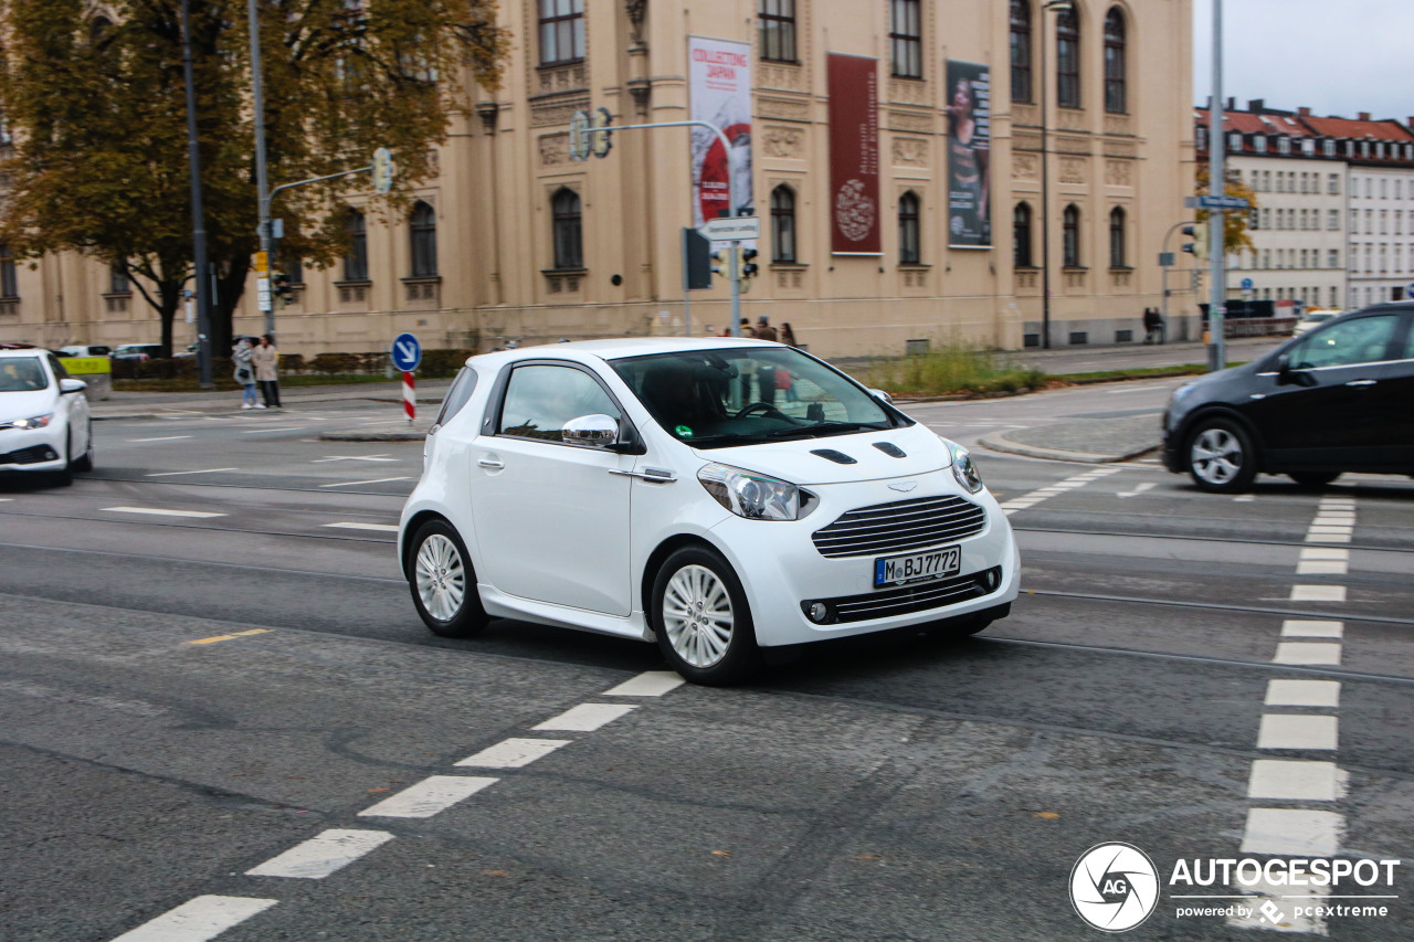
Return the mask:
<path fill-rule="evenodd" d="M 464 76 L 495 88 L 509 37 L 493 0 L 256 0 L 271 187 L 397 160 L 379 205 L 403 211 L 433 147 L 468 106 Z M 189 0 L 214 349 L 259 249 L 247 0 Z M 16 256 L 81 252 L 130 276 L 163 348 L 195 276 L 181 0 L 0 0 L 0 240 Z M 286 191 L 283 249 L 317 266 L 348 246 L 355 175 Z"/>

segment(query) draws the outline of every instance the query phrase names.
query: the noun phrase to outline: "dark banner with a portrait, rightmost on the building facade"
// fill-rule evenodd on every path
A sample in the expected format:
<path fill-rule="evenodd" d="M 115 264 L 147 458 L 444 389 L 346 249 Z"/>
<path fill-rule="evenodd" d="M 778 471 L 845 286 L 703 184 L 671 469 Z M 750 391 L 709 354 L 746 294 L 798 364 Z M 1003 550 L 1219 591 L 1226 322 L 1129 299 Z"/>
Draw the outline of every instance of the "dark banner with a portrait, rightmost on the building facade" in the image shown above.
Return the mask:
<path fill-rule="evenodd" d="M 991 69 L 947 61 L 947 245 L 991 248 Z"/>

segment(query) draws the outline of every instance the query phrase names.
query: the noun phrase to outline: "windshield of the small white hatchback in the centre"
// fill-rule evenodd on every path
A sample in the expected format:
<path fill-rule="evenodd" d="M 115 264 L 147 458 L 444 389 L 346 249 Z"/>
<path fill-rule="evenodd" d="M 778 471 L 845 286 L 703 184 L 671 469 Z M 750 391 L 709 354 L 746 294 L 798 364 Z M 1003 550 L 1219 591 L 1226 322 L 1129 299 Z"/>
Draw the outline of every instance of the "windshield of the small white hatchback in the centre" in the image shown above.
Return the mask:
<path fill-rule="evenodd" d="M 700 448 L 819 438 L 908 420 L 789 347 L 744 347 L 612 362 L 669 434 Z"/>

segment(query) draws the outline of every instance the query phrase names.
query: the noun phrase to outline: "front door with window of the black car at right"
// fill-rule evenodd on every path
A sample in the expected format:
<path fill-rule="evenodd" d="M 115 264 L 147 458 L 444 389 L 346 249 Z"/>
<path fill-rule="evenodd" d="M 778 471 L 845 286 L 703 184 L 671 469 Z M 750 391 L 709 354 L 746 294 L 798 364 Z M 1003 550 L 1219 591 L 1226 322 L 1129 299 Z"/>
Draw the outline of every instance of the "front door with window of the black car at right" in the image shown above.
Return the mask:
<path fill-rule="evenodd" d="M 1270 376 L 1249 407 L 1273 470 L 1353 468 L 1380 454 L 1380 403 L 1401 314 L 1340 318 L 1287 348 L 1288 371 Z"/>

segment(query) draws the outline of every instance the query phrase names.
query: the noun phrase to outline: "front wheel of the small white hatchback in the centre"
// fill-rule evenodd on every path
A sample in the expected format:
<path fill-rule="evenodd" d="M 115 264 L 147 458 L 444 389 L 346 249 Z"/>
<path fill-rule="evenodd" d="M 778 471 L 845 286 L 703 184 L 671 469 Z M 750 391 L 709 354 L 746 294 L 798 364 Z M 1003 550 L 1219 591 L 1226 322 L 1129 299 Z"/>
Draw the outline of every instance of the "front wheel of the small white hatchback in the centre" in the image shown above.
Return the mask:
<path fill-rule="evenodd" d="M 759 663 L 747 593 L 718 553 L 686 546 L 653 578 L 652 625 L 658 646 L 694 683 L 727 685 Z"/>

